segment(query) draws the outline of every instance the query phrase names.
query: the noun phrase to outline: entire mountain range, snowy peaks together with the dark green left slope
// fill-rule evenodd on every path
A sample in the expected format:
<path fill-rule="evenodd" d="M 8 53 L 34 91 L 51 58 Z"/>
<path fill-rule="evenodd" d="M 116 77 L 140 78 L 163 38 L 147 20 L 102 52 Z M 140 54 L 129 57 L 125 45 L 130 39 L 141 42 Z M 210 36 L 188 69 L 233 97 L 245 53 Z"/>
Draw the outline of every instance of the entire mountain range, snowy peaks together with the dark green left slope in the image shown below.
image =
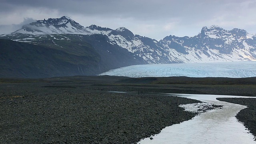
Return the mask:
<path fill-rule="evenodd" d="M 134 34 L 124 27 L 115 30 L 96 25 L 84 27 L 63 16 L 26 24 L 13 33 L 0 35 L 0 38 L 9 40 L 0 40 L 1 77 L 95 75 L 136 64 L 256 60 L 255 34 L 238 28 L 224 30 L 214 25 L 204 26 L 193 37 L 170 35 L 158 41 Z M 43 53 L 44 50 L 47 52 Z M 36 63 L 28 64 L 44 56 L 49 61 L 40 62 L 39 69 L 34 68 Z M 49 64 L 51 68 L 48 68 Z M 9 74 L 10 70 L 15 74 Z"/>

